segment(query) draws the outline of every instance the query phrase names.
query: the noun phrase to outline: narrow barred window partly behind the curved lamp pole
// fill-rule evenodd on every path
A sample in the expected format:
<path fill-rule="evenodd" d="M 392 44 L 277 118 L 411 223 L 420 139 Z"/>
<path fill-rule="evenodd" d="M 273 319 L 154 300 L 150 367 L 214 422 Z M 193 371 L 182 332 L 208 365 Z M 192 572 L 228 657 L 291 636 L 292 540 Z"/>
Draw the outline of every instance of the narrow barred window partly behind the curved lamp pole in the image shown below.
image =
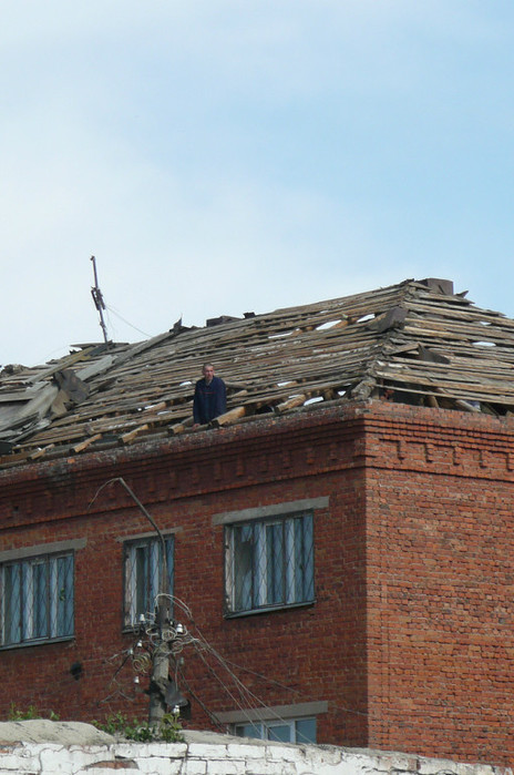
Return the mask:
<path fill-rule="evenodd" d="M 124 625 L 133 628 L 141 614 L 148 618 L 155 611 L 158 592 L 173 594 L 173 537 L 165 539 L 167 589 L 161 589 L 163 544 L 157 538 L 125 543 L 125 610 Z"/>

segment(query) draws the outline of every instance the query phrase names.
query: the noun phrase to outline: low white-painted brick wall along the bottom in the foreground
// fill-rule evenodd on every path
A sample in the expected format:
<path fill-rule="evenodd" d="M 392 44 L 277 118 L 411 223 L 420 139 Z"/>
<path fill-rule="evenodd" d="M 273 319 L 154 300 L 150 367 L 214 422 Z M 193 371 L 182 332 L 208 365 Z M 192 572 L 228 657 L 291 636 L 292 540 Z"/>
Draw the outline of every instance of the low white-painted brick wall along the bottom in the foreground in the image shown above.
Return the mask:
<path fill-rule="evenodd" d="M 512 775 L 407 754 L 217 736 L 186 743 L 0 743 L 0 775 Z"/>

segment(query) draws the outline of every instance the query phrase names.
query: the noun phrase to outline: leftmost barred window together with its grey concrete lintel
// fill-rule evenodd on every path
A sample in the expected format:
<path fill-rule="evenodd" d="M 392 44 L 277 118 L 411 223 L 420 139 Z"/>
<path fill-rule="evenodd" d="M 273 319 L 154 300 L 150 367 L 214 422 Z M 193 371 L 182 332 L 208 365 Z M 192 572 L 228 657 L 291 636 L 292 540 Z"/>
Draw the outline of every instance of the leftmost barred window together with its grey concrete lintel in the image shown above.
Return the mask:
<path fill-rule="evenodd" d="M 49 544 L 48 548 L 43 544 L 0 553 L 1 651 L 74 639 L 74 549 L 83 545 L 85 542 L 73 541 Z M 8 575 L 9 569 L 12 571 Z M 64 573 L 64 578 L 60 581 L 61 572 Z M 6 591 L 9 583 L 11 594 Z M 62 589 L 60 583 L 64 584 Z M 12 595 L 16 595 L 14 601 Z M 27 602 L 29 599 L 30 604 Z M 9 611 L 10 621 L 7 623 L 8 608 L 12 610 Z M 9 641 L 8 634 L 11 636 Z"/>

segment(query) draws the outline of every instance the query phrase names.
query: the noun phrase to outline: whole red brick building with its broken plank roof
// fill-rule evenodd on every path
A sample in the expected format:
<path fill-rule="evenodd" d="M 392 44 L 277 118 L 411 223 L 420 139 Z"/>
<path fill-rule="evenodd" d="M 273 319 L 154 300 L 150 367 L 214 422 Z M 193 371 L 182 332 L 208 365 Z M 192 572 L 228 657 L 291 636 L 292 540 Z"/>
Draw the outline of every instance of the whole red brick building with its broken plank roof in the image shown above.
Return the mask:
<path fill-rule="evenodd" d="M 428 279 L 208 323 L 1 373 L 0 711 L 144 714 L 165 547 L 189 725 L 512 765 L 514 322 Z"/>

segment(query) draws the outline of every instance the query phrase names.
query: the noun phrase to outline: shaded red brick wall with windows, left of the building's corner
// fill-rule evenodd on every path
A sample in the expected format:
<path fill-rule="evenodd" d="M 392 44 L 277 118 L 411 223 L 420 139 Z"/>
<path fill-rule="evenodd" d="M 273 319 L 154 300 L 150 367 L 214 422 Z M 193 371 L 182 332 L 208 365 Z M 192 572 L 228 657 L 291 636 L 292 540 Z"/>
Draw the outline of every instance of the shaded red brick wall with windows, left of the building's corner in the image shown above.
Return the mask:
<path fill-rule="evenodd" d="M 248 690 L 269 705 L 329 701 L 319 740 L 366 745 L 360 425 L 351 417 L 310 426 L 301 417 L 279 425 L 271 419 L 258 424 L 257 434 L 247 426 L 161 442 L 143 459 L 140 447 L 11 472 L 10 479 L 4 472 L 0 550 L 74 538 L 85 538 L 86 545 L 76 553 L 74 640 L 0 652 L 1 711 L 14 700 L 66 718 L 117 710 L 132 715 L 136 708 L 144 714 L 147 698 L 136 695 L 128 663 L 114 683 L 112 676 L 134 640 L 122 634 L 120 539 L 151 527 L 119 483 L 91 504 L 102 483 L 123 476 L 162 530 L 177 529 L 175 594 Z M 224 619 L 224 532 L 213 526 L 213 514 L 319 497 L 329 498 L 329 508 L 315 514 L 316 603 Z M 183 656 L 193 696 L 208 711 L 250 704 L 208 652 L 202 659 L 189 647 Z M 78 681 L 69 672 L 74 662 L 83 665 Z M 192 723 L 209 724 L 194 700 Z"/>

